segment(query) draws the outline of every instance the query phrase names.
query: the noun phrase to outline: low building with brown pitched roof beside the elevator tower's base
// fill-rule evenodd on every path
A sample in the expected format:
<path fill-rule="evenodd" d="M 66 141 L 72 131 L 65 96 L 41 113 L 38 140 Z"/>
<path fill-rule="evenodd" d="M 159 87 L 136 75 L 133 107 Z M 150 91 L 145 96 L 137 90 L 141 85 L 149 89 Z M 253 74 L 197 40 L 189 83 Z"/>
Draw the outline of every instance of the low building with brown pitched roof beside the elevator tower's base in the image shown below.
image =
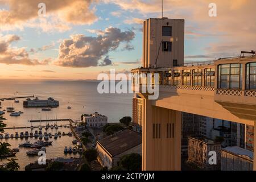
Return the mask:
<path fill-rule="evenodd" d="M 118 166 L 123 155 L 142 154 L 142 135 L 133 130 L 122 130 L 97 141 L 97 160 L 109 169 Z"/>

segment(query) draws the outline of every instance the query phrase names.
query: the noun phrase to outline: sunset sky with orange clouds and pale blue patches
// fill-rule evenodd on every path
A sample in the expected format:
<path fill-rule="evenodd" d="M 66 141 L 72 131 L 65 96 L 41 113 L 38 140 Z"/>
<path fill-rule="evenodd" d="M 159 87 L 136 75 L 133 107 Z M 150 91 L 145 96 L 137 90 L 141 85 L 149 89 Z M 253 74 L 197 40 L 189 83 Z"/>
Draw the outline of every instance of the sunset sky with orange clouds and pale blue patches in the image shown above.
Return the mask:
<path fill-rule="evenodd" d="M 208 15 L 216 3 L 217 17 Z M 38 16 L 38 4 L 46 16 Z M 141 64 L 142 20 L 161 1 L 0 0 L 0 79 L 95 79 Z M 255 0 L 165 0 L 164 16 L 185 19 L 185 60 L 256 49 Z"/>

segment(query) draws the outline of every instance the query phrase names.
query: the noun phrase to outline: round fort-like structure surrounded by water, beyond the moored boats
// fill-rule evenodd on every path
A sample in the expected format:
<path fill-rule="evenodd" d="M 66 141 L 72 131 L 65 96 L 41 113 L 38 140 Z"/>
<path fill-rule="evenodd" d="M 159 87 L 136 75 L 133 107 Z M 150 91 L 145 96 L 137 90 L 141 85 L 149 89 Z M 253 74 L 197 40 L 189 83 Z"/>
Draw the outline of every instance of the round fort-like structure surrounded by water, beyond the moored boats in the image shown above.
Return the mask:
<path fill-rule="evenodd" d="M 55 101 L 52 97 L 47 100 L 39 100 L 36 97 L 34 100 L 23 101 L 23 107 L 57 107 L 59 106 L 59 101 Z"/>

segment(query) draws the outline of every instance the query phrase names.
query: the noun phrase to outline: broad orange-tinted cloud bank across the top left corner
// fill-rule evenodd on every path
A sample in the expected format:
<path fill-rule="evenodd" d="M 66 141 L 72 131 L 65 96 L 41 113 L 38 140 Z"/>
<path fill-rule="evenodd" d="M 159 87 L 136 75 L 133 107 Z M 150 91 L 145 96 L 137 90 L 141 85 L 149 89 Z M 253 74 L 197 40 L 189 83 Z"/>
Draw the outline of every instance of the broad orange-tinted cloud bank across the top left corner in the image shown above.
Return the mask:
<path fill-rule="evenodd" d="M 1 29 L 32 27 L 55 27 L 60 30 L 67 29 L 71 24 L 92 24 L 97 20 L 95 9 L 90 8 L 93 0 L 44 0 L 46 4 L 46 18 L 39 17 L 39 3 L 41 0 L 2 0 L 0 5 L 7 9 L 0 9 Z M 39 19 L 39 21 L 36 21 Z M 51 19 L 55 19 L 51 21 Z M 44 20 L 48 20 L 46 23 Z M 3 27 L 3 28 L 2 28 Z"/>

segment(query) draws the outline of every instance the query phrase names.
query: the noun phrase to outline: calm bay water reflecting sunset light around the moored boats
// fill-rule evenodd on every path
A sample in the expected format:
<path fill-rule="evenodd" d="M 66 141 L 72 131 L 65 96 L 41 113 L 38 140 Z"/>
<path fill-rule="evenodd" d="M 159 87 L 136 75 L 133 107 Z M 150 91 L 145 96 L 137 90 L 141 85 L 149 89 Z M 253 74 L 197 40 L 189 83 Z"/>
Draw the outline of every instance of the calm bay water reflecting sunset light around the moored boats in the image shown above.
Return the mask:
<path fill-rule="evenodd" d="M 108 122 L 118 122 L 123 116 L 131 116 L 132 114 L 132 98 L 133 94 L 100 94 L 97 92 L 98 81 L 53 81 L 53 80 L 0 80 L 0 98 L 19 97 L 35 95 L 39 99 L 47 99 L 53 97 L 60 102 L 60 106 L 53 108 L 51 111 L 42 111 L 40 108 L 24 108 L 23 101 L 19 99 L 19 103 L 13 101 L 1 101 L 2 109 L 8 106 L 15 107 L 15 111 L 23 111 L 20 117 L 11 117 L 6 112 L 3 116 L 7 119 L 5 123 L 7 127 L 28 127 L 27 129 L 7 129 L 6 133 L 14 134 L 15 131 L 28 131 L 30 126 L 38 126 L 40 123 L 30 123 L 30 119 L 61 119 L 71 118 L 74 121 L 81 119 L 82 114 L 91 114 L 98 111 L 100 114 L 108 116 Z M 72 109 L 67 109 L 71 106 Z M 68 122 L 58 122 L 59 124 L 67 124 Z M 51 124 L 51 122 L 49 123 Z M 42 122 L 42 126 L 46 123 Z M 37 129 L 34 129 L 37 130 Z M 59 127 L 57 131 L 70 130 L 64 127 Z M 48 129 L 47 133 L 57 133 L 55 129 Z M 44 133 L 44 129 L 42 130 Z M 72 155 L 64 155 L 65 146 L 72 146 L 73 137 L 64 136 L 54 140 L 52 146 L 47 147 L 47 158 L 65 157 L 69 158 Z M 34 138 L 28 138 L 31 142 L 36 141 Z M 18 148 L 19 143 L 26 142 L 26 139 L 0 139 L 0 142 L 9 142 L 11 148 Z M 38 156 L 28 157 L 26 148 L 20 148 L 20 152 L 16 154 L 20 169 L 38 159 Z M 77 154 L 79 156 L 79 154 Z M 1 163 L 5 163 L 3 160 Z"/>

